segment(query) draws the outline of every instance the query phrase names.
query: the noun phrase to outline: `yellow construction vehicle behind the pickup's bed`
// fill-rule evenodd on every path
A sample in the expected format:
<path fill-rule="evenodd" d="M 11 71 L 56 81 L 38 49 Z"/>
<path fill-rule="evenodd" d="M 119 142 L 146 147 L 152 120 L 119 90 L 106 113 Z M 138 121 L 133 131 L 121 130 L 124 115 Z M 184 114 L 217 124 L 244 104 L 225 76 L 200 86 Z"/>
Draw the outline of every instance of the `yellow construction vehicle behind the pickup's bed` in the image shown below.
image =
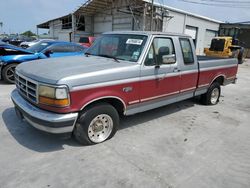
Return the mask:
<path fill-rule="evenodd" d="M 233 37 L 214 37 L 210 48 L 205 48 L 204 53 L 210 57 L 238 58 L 243 62 L 244 48 L 239 46 L 239 41 Z"/>

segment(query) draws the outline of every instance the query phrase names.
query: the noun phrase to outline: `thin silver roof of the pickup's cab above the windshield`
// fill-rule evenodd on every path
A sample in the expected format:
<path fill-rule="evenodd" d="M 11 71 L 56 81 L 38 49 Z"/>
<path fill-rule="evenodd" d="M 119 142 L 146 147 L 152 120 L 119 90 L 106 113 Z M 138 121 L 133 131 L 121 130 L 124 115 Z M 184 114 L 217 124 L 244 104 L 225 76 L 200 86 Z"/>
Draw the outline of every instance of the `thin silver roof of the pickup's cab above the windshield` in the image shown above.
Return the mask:
<path fill-rule="evenodd" d="M 168 35 L 179 37 L 190 37 L 189 35 L 182 33 L 170 33 L 170 32 L 157 32 L 157 31 L 110 31 L 103 34 L 131 34 L 131 35 Z"/>

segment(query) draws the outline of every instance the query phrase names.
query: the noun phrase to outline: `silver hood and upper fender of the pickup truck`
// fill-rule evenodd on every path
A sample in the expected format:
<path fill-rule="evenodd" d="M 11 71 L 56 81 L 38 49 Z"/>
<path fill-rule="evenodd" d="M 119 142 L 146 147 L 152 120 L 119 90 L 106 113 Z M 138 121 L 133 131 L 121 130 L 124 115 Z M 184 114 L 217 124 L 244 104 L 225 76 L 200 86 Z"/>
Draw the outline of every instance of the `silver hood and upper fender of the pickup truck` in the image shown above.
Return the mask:
<path fill-rule="evenodd" d="M 75 56 L 36 60 L 17 66 L 22 75 L 47 84 L 69 87 L 133 78 L 139 75 L 139 64 L 98 56 Z M 131 70 L 131 71 L 130 71 Z M 129 73 L 129 75 L 128 75 Z"/>

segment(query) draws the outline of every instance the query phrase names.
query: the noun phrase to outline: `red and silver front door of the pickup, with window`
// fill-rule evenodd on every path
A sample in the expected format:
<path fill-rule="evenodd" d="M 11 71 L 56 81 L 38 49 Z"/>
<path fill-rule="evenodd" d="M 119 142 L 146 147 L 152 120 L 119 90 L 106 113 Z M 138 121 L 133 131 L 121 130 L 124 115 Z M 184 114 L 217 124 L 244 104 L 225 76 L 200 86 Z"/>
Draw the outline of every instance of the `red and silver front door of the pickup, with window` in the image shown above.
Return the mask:
<path fill-rule="evenodd" d="M 172 64 L 163 63 L 164 56 L 168 55 L 175 55 L 172 39 L 155 37 L 141 70 L 140 98 L 142 103 L 167 100 L 179 93 L 179 67 L 177 61 Z"/>

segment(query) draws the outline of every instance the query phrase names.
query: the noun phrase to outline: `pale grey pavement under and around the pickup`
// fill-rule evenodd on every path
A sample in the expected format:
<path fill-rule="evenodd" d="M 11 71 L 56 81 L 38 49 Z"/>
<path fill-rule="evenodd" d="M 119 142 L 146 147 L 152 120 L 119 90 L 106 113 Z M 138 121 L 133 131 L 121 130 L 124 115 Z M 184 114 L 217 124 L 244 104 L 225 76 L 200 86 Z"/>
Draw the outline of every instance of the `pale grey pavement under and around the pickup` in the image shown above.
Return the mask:
<path fill-rule="evenodd" d="M 187 100 L 122 118 L 95 146 L 42 133 L 15 115 L 0 82 L 0 187 L 250 187 L 250 61 L 220 103 Z"/>

